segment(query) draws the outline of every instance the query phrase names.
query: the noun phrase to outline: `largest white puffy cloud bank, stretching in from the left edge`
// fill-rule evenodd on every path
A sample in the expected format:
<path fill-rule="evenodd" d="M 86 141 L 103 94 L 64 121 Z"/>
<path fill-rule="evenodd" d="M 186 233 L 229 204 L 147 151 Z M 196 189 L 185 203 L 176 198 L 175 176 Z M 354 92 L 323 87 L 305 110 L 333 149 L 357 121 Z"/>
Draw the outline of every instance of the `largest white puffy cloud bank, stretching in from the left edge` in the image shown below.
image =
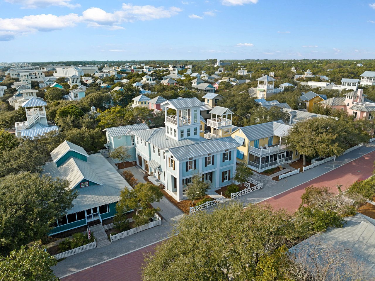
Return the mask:
<path fill-rule="evenodd" d="M 52 2 L 50 0 L 46 1 Z M 83 11 L 80 16 L 78 14 L 61 16 L 42 14 L 25 16 L 23 18 L 0 18 L 0 41 L 9 41 L 14 39 L 15 36 L 27 33 L 47 32 L 74 27 L 77 23 L 87 23 L 87 26 L 92 28 L 118 30 L 124 29 L 120 26 L 121 23 L 170 18 L 173 15 L 177 15 L 180 11 L 181 9 L 177 7 L 165 9 L 164 7 L 151 5 L 133 6 L 131 4 L 123 4 L 122 9 L 113 13 L 92 7 Z"/>

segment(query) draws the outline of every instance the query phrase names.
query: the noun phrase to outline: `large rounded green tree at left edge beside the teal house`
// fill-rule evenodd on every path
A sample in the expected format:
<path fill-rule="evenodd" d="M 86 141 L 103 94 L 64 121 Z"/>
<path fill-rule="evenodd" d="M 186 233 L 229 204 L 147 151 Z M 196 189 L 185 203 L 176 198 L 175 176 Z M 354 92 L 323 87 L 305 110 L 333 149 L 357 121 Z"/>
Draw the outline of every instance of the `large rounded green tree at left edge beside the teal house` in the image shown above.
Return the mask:
<path fill-rule="evenodd" d="M 69 181 L 30 172 L 0 178 L 0 193 L 3 255 L 48 234 L 77 197 Z"/>

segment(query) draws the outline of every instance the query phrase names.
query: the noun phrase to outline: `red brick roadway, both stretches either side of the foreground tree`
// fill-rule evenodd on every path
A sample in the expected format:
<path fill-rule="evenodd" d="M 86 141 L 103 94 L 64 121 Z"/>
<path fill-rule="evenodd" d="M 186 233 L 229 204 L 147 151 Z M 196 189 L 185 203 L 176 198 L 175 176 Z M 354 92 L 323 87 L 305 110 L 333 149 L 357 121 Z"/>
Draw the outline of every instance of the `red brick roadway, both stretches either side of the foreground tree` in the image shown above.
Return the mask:
<path fill-rule="evenodd" d="M 374 170 L 373 163 L 375 151 L 356 160 L 353 160 L 339 168 L 334 169 L 311 181 L 300 184 L 291 190 L 267 199 L 264 202 L 272 204 L 276 208 L 286 208 L 294 212 L 301 203 L 301 195 L 305 187 L 329 186 L 338 192 L 336 184 L 342 184 L 342 190 L 346 189 L 356 180 L 365 180 L 370 177 Z M 360 171 L 360 172 L 358 172 Z M 160 242 L 159 242 L 160 243 Z M 93 267 L 62 278 L 63 281 L 141 281 L 141 266 L 144 263 L 144 254 L 153 253 L 153 245 L 130 252 L 112 260 L 105 261 Z"/>

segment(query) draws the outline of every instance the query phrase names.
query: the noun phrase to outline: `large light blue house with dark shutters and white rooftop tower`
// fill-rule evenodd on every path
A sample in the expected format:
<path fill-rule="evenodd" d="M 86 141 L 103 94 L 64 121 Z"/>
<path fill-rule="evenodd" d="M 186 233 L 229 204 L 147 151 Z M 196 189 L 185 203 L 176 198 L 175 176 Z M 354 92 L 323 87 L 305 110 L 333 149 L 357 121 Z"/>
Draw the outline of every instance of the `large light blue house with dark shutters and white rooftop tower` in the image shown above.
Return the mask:
<path fill-rule="evenodd" d="M 166 127 L 131 132 L 137 164 L 177 201 L 186 199 L 187 184 L 198 172 L 213 190 L 230 184 L 239 143 L 232 137 L 207 140 L 199 136 L 202 103 L 197 98 L 168 100 L 161 106 Z M 167 115 L 168 109 L 175 114 Z"/>

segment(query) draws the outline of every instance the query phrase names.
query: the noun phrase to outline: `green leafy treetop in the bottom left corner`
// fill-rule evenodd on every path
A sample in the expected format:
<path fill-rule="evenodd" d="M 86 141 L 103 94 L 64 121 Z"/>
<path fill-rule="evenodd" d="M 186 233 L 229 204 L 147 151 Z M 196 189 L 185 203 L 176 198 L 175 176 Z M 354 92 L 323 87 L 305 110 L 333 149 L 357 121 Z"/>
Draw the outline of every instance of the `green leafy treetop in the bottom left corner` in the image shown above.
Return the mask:
<path fill-rule="evenodd" d="M 57 260 L 51 257 L 40 243 L 30 248 L 21 247 L 7 257 L 0 257 L 0 280 L 3 281 L 57 281 L 51 269 Z"/>

